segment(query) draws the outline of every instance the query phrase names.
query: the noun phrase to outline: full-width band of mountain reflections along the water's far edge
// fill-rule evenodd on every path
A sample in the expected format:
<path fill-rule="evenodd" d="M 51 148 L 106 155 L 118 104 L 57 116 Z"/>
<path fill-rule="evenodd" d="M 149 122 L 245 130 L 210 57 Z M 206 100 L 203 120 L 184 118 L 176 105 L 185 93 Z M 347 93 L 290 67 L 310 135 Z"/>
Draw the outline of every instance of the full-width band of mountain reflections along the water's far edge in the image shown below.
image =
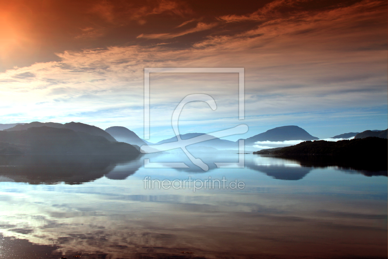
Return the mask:
<path fill-rule="evenodd" d="M 209 171 L 217 170 L 214 162 L 238 162 L 233 151 L 219 153 L 195 152 Z M 192 164 L 183 152 L 160 152 L 128 156 L 101 155 L 0 155 L 0 181 L 15 181 L 29 184 L 81 184 L 101 177 L 114 180 L 126 179 L 144 166 L 144 158 L 151 162 L 184 162 L 189 168 L 175 168 L 179 172 L 204 173 Z M 279 180 L 300 180 L 315 168 L 335 167 L 353 174 L 387 176 L 386 163 L 369 163 L 359 159 L 336 159 L 323 156 L 260 156 L 246 155 L 245 166 Z"/>

